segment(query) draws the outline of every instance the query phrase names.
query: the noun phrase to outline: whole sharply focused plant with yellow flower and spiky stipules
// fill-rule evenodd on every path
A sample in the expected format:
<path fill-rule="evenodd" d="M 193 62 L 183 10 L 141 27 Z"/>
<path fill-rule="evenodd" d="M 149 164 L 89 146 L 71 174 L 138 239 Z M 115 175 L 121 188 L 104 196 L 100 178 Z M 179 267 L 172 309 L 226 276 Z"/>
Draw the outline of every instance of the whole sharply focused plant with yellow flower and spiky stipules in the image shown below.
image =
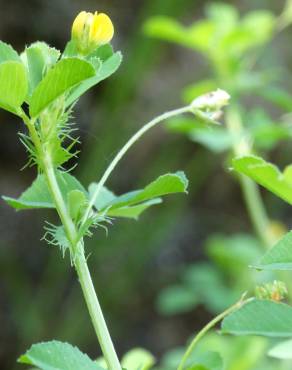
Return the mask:
<path fill-rule="evenodd" d="M 35 344 L 18 361 L 43 370 L 131 370 L 154 364 L 153 357 L 143 350 L 134 350 L 119 361 L 88 269 L 85 239 L 93 236 L 94 229 L 107 229 L 115 218 L 137 219 L 161 203 L 164 195 L 186 193 L 188 180 L 183 172 L 164 174 L 143 189 L 123 195 L 115 195 L 105 184 L 127 151 L 150 128 L 184 113 L 214 124 L 229 100 L 225 91 L 217 90 L 154 118 L 118 151 L 101 178 L 85 188 L 71 173 L 79 142 L 72 124 L 73 108 L 86 91 L 118 69 L 122 57 L 110 45 L 113 35 L 114 26 L 106 14 L 83 11 L 73 23 L 71 40 L 63 52 L 36 42 L 19 55 L 12 46 L 0 42 L 0 107 L 23 121 L 19 135 L 28 154 L 26 166 L 36 168 L 36 179 L 27 190 L 18 198 L 3 199 L 16 210 L 56 210 L 60 224 L 46 222 L 43 239 L 58 246 L 63 257 L 70 256 L 103 354 L 97 362 L 68 343 Z M 187 353 L 180 368 L 188 357 Z"/>

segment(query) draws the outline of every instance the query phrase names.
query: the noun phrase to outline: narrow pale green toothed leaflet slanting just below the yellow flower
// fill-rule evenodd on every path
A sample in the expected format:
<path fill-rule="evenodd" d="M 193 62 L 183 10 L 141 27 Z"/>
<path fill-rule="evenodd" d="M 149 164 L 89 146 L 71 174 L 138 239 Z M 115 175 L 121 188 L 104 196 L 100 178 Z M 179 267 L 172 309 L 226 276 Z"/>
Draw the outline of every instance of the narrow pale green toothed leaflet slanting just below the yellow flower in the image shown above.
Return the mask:
<path fill-rule="evenodd" d="M 110 58 L 104 61 L 94 77 L 82 82 L 70 93 L 66 99 L 66 105 L 71 105 L 92 86 L 97 85 L 100 81 L 103 81 L 112 75 L 119 68 L 121 62 L 122 54 L 120 52 L 113 54 Z"/>

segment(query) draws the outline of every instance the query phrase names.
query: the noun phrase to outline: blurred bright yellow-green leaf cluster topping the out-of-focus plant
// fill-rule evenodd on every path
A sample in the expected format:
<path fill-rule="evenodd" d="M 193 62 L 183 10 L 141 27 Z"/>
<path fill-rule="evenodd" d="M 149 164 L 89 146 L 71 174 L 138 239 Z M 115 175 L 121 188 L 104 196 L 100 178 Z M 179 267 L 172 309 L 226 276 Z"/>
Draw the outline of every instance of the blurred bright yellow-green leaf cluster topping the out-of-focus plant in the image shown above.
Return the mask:
<path fill-rule="evenodd" d="M 258 27 L 254 27 L 257 24 Z M 189 27 L 168 17 L 153 17 L 145 24 L 148 35 L 199 50 L 216 58 L 238 58 L 249 49 L 266 42 L 273 32 L 275 17 L 268 11 L 248 13 L 241 20 L 236 9 L 225 3 L 207 8 L 207 19 Z M 218 62 L 218 61 L 217 61 Z"/>

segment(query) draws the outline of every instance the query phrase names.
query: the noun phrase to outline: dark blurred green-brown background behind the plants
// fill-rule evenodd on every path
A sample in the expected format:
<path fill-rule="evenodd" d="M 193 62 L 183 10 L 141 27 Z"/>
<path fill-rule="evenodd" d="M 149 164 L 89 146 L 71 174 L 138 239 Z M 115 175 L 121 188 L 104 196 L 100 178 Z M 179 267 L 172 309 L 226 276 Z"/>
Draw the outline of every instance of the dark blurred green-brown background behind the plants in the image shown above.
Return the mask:
<path fill-rule="evenodd" d="M 225 3 L 234 5 L 240 14 L 256 9 L 280 14 L 284 7 L 284 1 L 272 0 Z M 72 20 L 83 9 L 102 10 L 114 21 L 113 43 L 124 55 L 123 64 L 83 97 L 75 110 L 82 152 L 74 173 L 84 184 L 99 178 L 118 148 L 143 123 L 180 106 L 186 85 L 210 76 L 210 66 L 200 53 L 143 32 L 144 22 L 154 15 L 172 16 L 185 25 L 200 20 L 206 4 L 195 0 L 0 0 L 0 38 L 18 51 L 36 40 L 63 50 Z M 292 92 L 291 37 L 292 29 L 287 27 L 258 62 L 269 66 L 271 74 L 281 70 L 281 86 L 288 92 Z M 246 109 L 264 107 L 261 112 L 268 112 L 274 121 L 288 110 L 261 98 L 244 99 Z M 20 171 L 26 153 L 17 136 L 23 131 L 19 120 L 1 111 L 0 124 L 0 193 L 16 196 L 31 184 L 35 170 Z M 268 145 L 267 156 L 280 165 L 289 164 L 290 137 L 287 132 L 280 145 L 277 140 Z M 184 345 L 245 284 L 249 288 L 254 281 L 246 266 L 261 246 L 240 187 L 228 170 L 230 154 L 195 141 L 200 140 L 191 141 L 167 127 L 156 128 L 128 153 L 109 181 L 111 189 L 123 193 L 180 169 L 190 180 L 187 196 L 169 197 L 139 221 L 119 220 L 108 236 L 99 230 L 88 241 L 89 266 L 120 355 L 140 346 L 162 358 L 166 351 Z M 262 195 L 271 218 L 281 222 L 278 227 L 289 228 L 290 208 L 266 192 Z M 57 248 L 40 240 L 44 219 L 53 222 L 55 216 L 43 211 L 16 213 L 0 201 L 1 370 L 21 368 L 15 364 L 21 353 L 32 343 L 53 338 L 75 344 L 92 357 L 100 355 L 69 258 L 63 259 Z M 237 252 L 222 263 L 219 251 L 227 260 L 227 246 L 235 246 Z M 239 271 L 241 281 L 234 287 L 234 274 Z M 193 290 L 194 282 L 200 289 Z M 265 361 L 265 343 L 256 344 L 259 355 L 242 369 L 264 366 L 259 363 Z M 241 348 L 245 345 L 240 344 Z"/>

